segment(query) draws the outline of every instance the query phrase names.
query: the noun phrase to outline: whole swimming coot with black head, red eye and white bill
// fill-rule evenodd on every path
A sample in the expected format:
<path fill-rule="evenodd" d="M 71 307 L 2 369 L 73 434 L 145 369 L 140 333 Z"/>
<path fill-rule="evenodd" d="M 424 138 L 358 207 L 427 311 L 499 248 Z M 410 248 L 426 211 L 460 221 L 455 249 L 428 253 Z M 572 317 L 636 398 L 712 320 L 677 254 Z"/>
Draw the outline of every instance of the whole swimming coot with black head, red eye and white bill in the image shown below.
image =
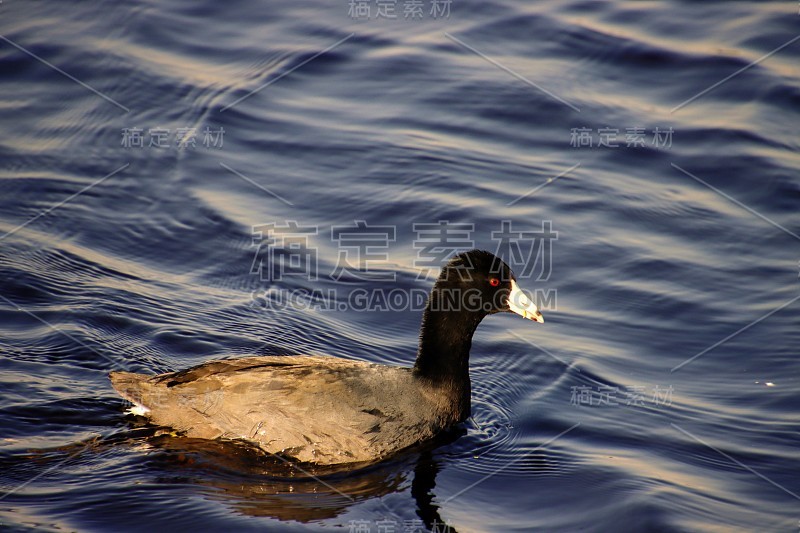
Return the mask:
<path fill-rule="evenodd" d="M 472 334 L 484 316 L 502 311 L 544 322 L 508 265 L 472 250 L 454 257 L 436 280 L 413 368 L 265 356 L 110 377 L 134 403 L 131 412 L 187 437 L 245 439 L 318 465 L 372 462 L 469 416 Z"/>

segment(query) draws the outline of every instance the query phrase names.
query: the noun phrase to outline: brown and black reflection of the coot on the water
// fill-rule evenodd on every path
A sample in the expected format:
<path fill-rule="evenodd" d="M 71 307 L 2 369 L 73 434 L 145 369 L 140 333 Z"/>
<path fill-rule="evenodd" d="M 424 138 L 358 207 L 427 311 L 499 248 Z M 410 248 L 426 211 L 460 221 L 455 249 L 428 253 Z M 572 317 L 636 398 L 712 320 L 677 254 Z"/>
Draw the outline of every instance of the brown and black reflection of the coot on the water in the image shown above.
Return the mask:
<path fill-rule="evenodd" d="M 443 530 L 445 523 L 435 504 L 434 488 L 440 464 L 435 447 L 458 438 L 458 428 L 424 447 L 398 457 L 354 469 L 319 468 L 266 455 L 244 441 L 189 439 L 153 435 L 135 439 L 160 453 L 148 454 L 154 470 L 173 472 L 162 481 L 190 481 L 207 487 L 207 496 L 226 503 L 239 513 L 283 521 L 333 520 L 355 504 L 401 492 L 413 473 L 411 496 L 416 514 L 428 531 Z M 131 442 L 128 442 L 130 445 Z M 386 507 L 386 515 L 396 514 Z M 346 524 L 344 524 L 346 525 Z M 455 532 L 450 526 L 447 531 Z"/>

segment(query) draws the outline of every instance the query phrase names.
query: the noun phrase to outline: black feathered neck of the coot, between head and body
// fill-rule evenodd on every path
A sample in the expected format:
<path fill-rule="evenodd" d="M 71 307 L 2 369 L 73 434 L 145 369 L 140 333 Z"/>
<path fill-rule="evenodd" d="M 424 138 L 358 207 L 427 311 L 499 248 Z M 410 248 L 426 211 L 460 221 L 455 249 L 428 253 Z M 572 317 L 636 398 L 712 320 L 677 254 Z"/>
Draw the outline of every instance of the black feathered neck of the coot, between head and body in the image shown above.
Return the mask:
<path fill-rule="evenodd" d="M 466 394 L 468 401 L 469 349 L 472 335 L 485 314 L 446 309 L 441 296 L 441 289 L 434 287 L 425 306 L 414 373 Z"/>

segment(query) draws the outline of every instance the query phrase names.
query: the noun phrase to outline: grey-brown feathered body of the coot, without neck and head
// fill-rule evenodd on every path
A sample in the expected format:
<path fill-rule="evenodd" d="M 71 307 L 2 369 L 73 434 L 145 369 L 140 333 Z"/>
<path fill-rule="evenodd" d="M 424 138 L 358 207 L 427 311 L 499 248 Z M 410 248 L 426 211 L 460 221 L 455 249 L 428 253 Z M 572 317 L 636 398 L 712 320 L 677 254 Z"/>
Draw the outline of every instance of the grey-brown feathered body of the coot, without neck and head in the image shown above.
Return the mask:
<path fill-rule="evenodd" d="M 248 357 L 111 381 L 155 424 L 320 465 L 382 459 L 468 415 L 463 392 L 411 368 L 335 357 Z"/>

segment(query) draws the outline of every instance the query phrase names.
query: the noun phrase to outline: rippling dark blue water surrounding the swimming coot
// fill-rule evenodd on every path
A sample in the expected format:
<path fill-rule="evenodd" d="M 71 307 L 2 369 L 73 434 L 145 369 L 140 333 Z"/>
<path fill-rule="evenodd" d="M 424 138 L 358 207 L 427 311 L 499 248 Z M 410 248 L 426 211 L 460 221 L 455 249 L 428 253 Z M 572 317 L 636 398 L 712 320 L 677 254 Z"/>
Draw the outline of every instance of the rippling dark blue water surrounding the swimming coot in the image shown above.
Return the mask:
<path fill-rule="evenodd" d="M 0 4 L 2 525 L 797 531 L 797 3 L 407 4 Z M 378 277 L 332 279 L 356 221 Z M 114 369 L 409 364 L 419 310 L 354 296 L 436 242 L 547 320 L 479 328 L 460 437 L 320 481 L 123 414 Z"/>

